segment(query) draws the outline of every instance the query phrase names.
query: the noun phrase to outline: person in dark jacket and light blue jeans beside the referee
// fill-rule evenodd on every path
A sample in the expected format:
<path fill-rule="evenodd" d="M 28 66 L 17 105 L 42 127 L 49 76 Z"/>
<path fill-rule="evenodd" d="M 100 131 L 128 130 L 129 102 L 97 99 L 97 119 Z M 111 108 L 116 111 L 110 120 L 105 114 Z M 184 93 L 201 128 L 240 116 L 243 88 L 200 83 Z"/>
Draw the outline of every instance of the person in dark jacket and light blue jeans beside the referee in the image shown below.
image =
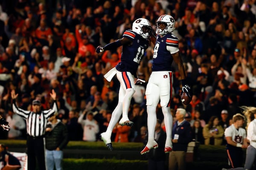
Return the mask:
<path fill-rule="evenodd" d="M 48 119 L 45 143 L 46 143 L 46 162 L 47 170 L 62 170 L 61 161 L 63 158 L 62 149 L 67 146 L 68 132 L 67 127 L 58 119 L 56 112 Z"/>

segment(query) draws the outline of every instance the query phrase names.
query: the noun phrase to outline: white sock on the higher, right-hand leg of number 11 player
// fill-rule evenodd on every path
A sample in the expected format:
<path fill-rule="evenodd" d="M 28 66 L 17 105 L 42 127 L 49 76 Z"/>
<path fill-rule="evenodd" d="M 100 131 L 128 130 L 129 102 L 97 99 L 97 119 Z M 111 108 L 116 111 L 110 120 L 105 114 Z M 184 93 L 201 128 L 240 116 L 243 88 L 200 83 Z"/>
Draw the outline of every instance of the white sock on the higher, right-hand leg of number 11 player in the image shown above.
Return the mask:
<path fill-rule="evenodd" d="M 128 118 L 128 111 L 131 105 L 131 98 L 133 94 L 135 93 L 135 90 L 133 88 L 128 88 L 125 90 L 125 96 L 122 102 L 122 119 L 129 120 Z"/>

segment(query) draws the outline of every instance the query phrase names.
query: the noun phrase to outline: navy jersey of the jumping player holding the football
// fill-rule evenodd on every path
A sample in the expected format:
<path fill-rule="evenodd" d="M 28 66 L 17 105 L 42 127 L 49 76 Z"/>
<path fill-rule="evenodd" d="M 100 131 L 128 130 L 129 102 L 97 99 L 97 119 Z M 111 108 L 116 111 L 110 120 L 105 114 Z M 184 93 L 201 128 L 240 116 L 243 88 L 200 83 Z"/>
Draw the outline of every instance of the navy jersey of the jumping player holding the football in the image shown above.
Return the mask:
<path fill-rule="evenodd" d="M 179 40 L 172 34 L 157 36 L 154 46 L 152 71 L 172 71 L 174 54 L 179 51 Z"/>

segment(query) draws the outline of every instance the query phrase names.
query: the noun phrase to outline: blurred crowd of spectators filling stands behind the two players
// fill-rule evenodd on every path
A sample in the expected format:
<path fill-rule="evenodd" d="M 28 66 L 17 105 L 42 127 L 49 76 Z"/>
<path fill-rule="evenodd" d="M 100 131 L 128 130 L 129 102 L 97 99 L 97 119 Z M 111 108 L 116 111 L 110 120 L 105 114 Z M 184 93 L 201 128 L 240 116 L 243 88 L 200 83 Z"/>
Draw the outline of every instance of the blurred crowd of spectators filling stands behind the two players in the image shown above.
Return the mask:
<path fill-rule="evenodd" d="M 36 97 L 44 109 L 50 108 L 49 93 L 54 89 L 58 118 L 67 125 L 69 139 L 91 141 L 95 139 L 90 136 L 96 135 L 99 140 L 117 105 L 119 90 L 117 79 L 107 82 L 103 75 L 119 62 L 122 47 L 103 54 L 96 54 L 95 48 L 122 38 L 139 17 L 147 18 L 154 29 L 160 15 L 171 14 L 194 94 L 188 106 L 180 102 L 180 76 L 172 65 L 172 113 L 186 108 L 192 127 L 194 119 L 200 119 L 204 127 L 212 116 L 223 119 L 221 112 L 226 110 L 227 127 L 232 116 L 241 112 L 239 106 L 256 105 L 255 4 L 255 0 L 0 0 L 0 114 L 13 117 L 12 89 L 25 110 L 31 109 Z M 137 73 L 146 81 L 153 47 L 145 52 Z M 145 87 L 136 86 L 129 113 L 134 126 L 116 126 L 113 141 L 144 141 L 144 93 Z M 157 118 L 163 121 L 160 108 Z M 98 131 L 91 130 L 94 124 L 82 127 L 78 123 L 79 117 L 88 115 L 93 115 Z M 1 131 L 0 138 L 26 139 L 26 128 L 20 129 L 13 121 L 14 131 Z M 89 138 L 83 137 L 83 130 L 91 134 Z"/>

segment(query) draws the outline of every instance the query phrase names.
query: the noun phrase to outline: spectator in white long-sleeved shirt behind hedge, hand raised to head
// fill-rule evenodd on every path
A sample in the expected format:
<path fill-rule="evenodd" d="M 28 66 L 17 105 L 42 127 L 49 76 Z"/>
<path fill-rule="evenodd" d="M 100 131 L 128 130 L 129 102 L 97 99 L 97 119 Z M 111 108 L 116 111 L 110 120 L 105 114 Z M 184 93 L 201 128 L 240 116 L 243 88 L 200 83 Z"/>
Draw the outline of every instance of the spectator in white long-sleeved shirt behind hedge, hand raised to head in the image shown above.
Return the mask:
<path fill-rule="evenodd" d="M 86 114 L 86 119 L 84 116 Z M 99 133 L 99 125 L 96 120 L 93 119 L 92 111 L 84 112 L 79 116 L 78 122 L 82 125 L 84 130 L 83 141 L 95 142 L 96 134 Z"/>

